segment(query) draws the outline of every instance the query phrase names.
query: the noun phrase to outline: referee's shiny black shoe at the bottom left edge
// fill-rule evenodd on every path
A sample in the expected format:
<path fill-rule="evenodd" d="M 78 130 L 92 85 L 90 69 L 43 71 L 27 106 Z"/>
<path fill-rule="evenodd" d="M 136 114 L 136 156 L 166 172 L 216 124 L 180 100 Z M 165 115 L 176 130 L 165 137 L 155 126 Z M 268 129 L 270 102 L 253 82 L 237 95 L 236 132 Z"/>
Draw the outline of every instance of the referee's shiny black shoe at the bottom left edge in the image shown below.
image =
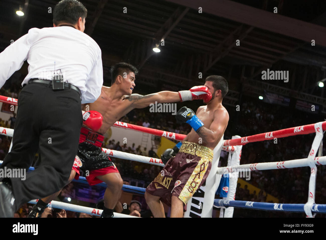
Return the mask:
<path fill-rule="evenodd" d="M 15 197 L 9 183 L 0 182 L 0 217 L 14 217 Z"/>

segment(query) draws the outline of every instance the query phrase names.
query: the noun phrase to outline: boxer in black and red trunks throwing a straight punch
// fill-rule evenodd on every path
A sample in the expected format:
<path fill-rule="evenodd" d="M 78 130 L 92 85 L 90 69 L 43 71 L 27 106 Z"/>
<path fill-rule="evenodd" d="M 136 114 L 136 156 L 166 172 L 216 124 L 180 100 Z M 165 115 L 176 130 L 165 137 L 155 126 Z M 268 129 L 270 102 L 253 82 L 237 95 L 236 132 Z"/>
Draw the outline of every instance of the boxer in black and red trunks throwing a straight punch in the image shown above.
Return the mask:
<path fill-rule="evenodd" d="M 117 120 L 134 108 L 144 108 L 155 103 L 174 103 L 196 99 L 203 99 L 205 101 L 208 97 L 209 99 L 211 98 L 211 93 L 205 86 L 196 86 L 189 90 L 179 92 L 161 91 L 145 96 L 132 94 L 132 90 L 136 86 L 135 76 L 137 73 L 138 70 L 130 64 L 118 63 L 113 65 L 111 68 L 111 87 L 102 86 L 101 94 L 94 103 L 82 104 L 82 110 L 97 111 L 103 116 L 103 123 L 98 131 L 89 132 L 90 129 L 85 130 L 82 128 L 81 139 L 84 138 L 86 140 L 82 139 L 82 142 L 80 141 L 77 154 L 79 159 L 76 160 L 76 162 L 81 160 L 79 164 L 76 164 L 77 166 L 81 165 L 80 168 L 83 171 L 89 171 L 89 176 L 87 176 L 88 174 L 86 172 L 86 179 L 90 185 L 101 182 L 107 184 L 107 189 L 104 193 L 104 209 L 101 217 L 113 216 L 113 208 L 119 200 L 123 185 L 119 171 L 111 162 L 110 158 L 104 155 L 105 153 L 101 151 L 101 147 L 98 145 L 102 144 L 103 134 Z M 121 139 L 123 137 L 127 136 L 121 136 Z M 75 177 L 75 174 L 79 175 L 78 168 L 71 170 L 68 181 L 71 181 Z M 59 193 L 60 191 L 38 200 L 38 206 L 33 208 L 33 215 L 35 216 L 36 212 L 38 212 L 39 214 L 37 216 L 40 216 L 47 203 L 58 196 Z"/>

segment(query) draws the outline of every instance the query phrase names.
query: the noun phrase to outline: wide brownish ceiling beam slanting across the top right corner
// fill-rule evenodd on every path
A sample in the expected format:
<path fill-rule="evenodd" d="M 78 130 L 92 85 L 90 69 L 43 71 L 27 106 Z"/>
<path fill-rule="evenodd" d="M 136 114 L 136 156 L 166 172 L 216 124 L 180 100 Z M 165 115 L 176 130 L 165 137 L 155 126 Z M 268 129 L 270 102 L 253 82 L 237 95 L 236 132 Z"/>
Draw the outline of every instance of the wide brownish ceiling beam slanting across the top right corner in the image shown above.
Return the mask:
<path fill-rule="evenodd" d="M 316 45 L 326 46 L 326 27 L 307 23 L 301 20 L 282 16 L 272 12 L 249 7 L 229 0 L 166 0 L 188 8 L 198 10 L 218 17 L 230 19 L 239 23 L 265 29 L 306 42 L 316 41 Z M 200 15 L 200 14 L 199 14 Z"/>

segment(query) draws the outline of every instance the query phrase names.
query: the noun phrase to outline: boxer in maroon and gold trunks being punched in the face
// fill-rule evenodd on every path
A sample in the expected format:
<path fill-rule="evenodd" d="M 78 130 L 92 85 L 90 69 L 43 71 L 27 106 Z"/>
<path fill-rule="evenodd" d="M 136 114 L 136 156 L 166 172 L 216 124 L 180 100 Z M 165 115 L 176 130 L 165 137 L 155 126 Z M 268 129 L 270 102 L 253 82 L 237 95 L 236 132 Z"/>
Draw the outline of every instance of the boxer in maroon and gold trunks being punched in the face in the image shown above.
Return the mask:
<path fill-rule="evenodd" d="M 206 106 L 200 106 L 196 115 L 187 107 L 177 112 L 175 118 L 193 129 L 182 144 L 178 143 L 161 155 L 166 164 L 163 172 L 146 188 L 145 199 L 154 217 L 165 217 L 162 202 L 171 207 L 170 217 L 183 217 L 188 200 L 211 170 L 213 149 L 229 122 L 228 111 L 222 105 L 228 83 L 224 77 L 212 75 L 205 79 L 205 86 L 212 93 L 212 99 Z"/>

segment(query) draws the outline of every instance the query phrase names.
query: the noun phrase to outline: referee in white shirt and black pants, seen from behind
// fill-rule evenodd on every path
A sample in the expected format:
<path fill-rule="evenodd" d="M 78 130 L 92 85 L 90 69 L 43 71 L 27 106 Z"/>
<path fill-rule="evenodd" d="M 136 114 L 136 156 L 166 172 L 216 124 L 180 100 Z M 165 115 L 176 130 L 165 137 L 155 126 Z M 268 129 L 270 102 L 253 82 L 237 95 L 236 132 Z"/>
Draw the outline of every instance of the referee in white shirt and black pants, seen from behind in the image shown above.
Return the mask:
<path fill-rule="evenodd" d="M 11 152 L 1 168 L 27 169 L 39 150 L 40 165 L 26 179 L 0 179 L 0 217 L 65 186 L 78 150 L 82 103 L 101 93 L 101 50 L 86 35 L 87 9 L 77 0 L 60 1 L 53 27 L 31 28 L 0 53 L 0 88 L 29 63 L 18 97 Z"/>

